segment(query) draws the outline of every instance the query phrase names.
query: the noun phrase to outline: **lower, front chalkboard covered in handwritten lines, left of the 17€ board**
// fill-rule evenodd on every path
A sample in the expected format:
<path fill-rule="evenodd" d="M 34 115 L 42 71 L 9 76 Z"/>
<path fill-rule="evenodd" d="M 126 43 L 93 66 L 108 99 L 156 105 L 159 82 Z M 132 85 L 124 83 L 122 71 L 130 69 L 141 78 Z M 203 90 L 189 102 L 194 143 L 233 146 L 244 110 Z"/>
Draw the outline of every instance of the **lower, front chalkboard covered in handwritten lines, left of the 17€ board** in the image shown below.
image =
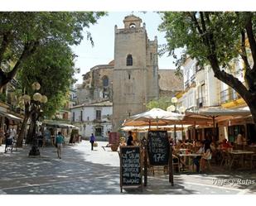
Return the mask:
<path fill-rule="evenodd" d="M 120 146 L 120 186 L 142 186 L 139 146 Z"/>

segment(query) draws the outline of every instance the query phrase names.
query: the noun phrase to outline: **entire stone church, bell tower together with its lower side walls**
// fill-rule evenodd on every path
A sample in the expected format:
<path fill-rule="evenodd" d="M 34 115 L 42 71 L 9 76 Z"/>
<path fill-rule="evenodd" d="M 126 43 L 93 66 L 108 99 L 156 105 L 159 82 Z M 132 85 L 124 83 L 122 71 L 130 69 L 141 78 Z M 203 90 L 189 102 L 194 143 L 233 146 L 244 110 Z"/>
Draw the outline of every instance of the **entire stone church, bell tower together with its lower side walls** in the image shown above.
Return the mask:
<path fill-rule="evenodd" d="M 173 70 L 159 71 L 157 36 L 148 39 L 141 18 L 130 15 L 123 24 L 123 28 L 114 27 L 114 60 L 90 69 L 77 88 L 80 104 L 113 103 L 113 132 L 118 132 L 124 119 L 145 112 L 152 99 L 181 91 L 183 85 L 183 79 L 176 78 Z M 170 79 L 177 79 L 175 85 L 170 84 L 168 74 Z"/>

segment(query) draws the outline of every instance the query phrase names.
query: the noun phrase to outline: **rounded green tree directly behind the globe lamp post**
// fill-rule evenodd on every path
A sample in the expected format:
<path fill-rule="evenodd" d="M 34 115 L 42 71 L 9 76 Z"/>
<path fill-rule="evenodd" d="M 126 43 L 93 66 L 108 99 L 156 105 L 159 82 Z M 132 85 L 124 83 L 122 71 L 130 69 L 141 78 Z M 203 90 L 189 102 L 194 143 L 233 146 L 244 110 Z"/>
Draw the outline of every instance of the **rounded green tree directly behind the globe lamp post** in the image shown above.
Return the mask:
<path fill-rule="evenodd" d="M 18 146 L 22 146 L 29 118 L 31 118 L 31 125 L 27 137 L 28 141 L 31 141 L 36 121 L 40 117 L 51 117 L 64 105 L 66 94 L 75 82 L 72 77 L 75 72 L 74 58 L 75 55 L 65 43 L 51 41 L 44 46 L 39 46 L 36 53 L 23 63 L 17 74 L 17 79 L 22 85 L 24 93 L 32 97 L 35 91 L 32 90 L 31 84 L 38 82 L 41 84 L 41 89 L 38 92 L 46 95 L 48 101 L 46 104 L 41 104 L 40 107 L 37 107 L 38 102 L 33 100 L 31 103 L 25 103 L 25 117 L 17 141 Z"/>

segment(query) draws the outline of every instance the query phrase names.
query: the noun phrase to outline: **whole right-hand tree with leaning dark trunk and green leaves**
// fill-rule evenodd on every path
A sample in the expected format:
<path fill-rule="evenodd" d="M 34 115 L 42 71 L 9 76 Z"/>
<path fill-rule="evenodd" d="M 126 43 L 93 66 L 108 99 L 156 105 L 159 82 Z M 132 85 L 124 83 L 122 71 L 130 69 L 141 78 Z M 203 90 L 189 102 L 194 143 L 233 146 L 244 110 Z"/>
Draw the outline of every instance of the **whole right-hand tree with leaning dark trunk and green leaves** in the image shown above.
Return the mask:
<path fill-rule="evenodd" d="M 186 55 L 200 66 L 210 65 L 215 77 L 244 98 L 256 124 L 256 16 L 255 12 L 163 12 L 161 31 L 166 31 L 165 51 L 176 58 L 179 69 Z M 183 48 L 181 56 L 176 48 Z M 229 63 L 244 62 L 246 86 L 229 74 Z M 249 58 L 252 63 L 249 63 Z"/>

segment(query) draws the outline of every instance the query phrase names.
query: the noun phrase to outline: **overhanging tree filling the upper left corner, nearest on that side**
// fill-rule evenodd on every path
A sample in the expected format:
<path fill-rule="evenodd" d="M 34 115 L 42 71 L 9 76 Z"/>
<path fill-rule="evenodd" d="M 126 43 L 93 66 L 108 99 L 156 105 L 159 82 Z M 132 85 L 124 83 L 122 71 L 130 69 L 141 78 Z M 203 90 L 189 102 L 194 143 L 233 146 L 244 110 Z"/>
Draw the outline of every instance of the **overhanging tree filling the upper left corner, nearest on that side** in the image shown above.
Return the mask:
<path fill-rule="evenodd" d="M 48 41 L 80 44 L 83 29 L 105 12 L 0 12 L 0 89 Z M 87 39 L 93 40 L 89 31 Z"/>

